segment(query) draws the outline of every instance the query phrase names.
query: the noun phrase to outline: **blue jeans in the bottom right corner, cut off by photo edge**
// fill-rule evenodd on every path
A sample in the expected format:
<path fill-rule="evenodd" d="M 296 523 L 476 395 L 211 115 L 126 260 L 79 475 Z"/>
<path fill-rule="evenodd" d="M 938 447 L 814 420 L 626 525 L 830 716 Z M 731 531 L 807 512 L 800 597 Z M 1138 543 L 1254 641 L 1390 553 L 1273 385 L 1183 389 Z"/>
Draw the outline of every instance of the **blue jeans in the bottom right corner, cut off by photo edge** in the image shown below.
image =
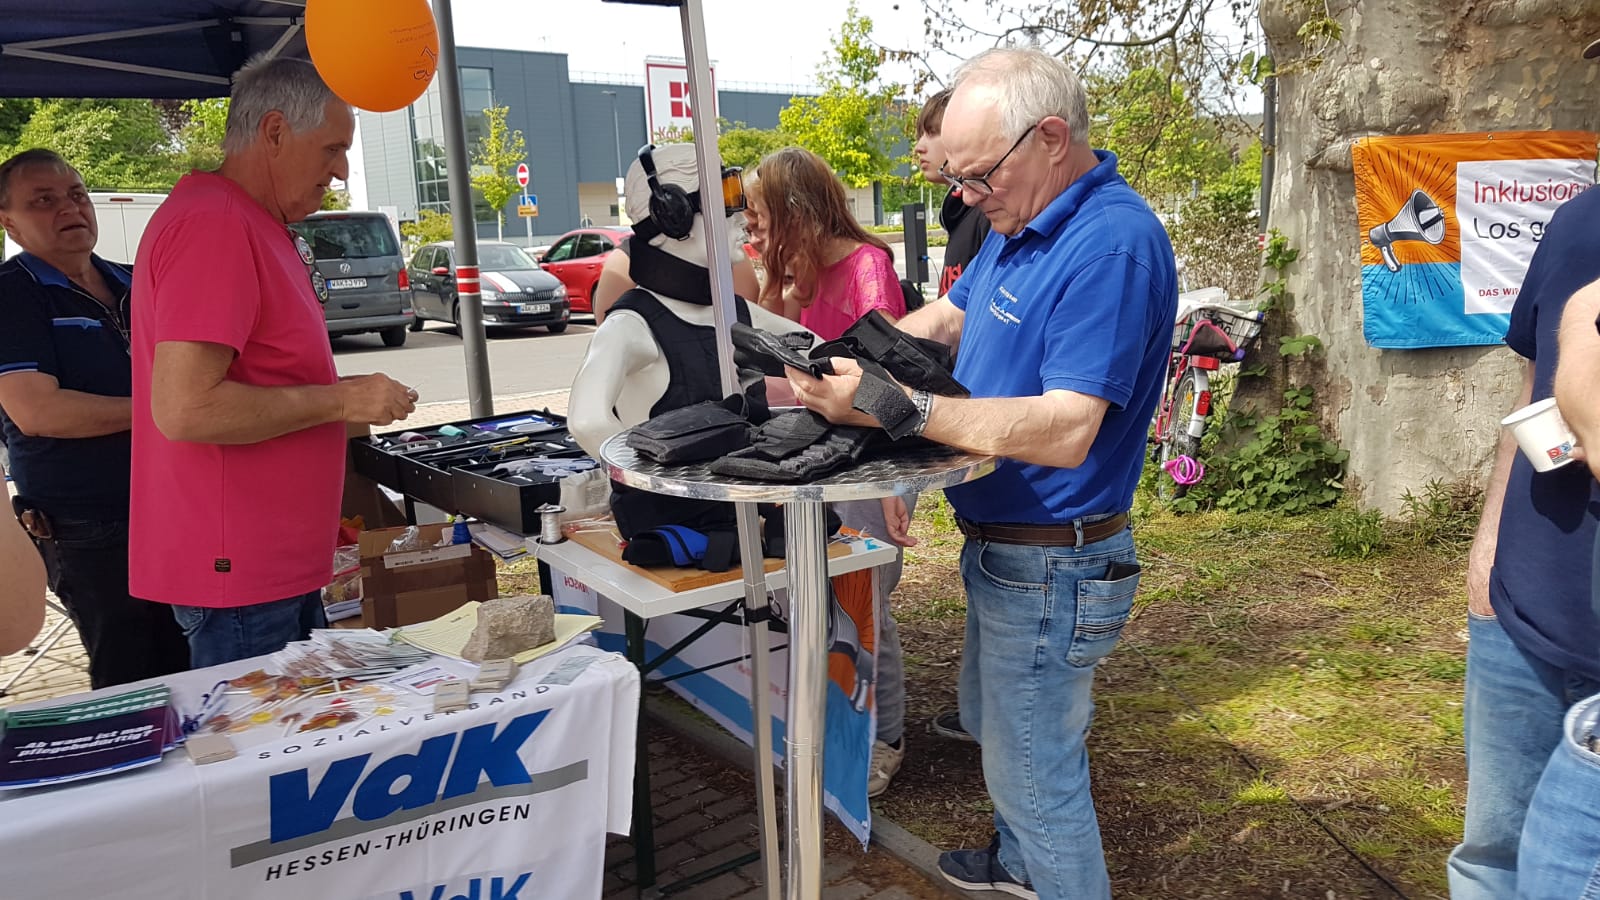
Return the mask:
<path fill-rule="evenodd" d="M 1600 695 L 1566 713 L 1562 743 L 1528 804 L 1517 855 L 1517 900 L 1600 897 Z"/>

